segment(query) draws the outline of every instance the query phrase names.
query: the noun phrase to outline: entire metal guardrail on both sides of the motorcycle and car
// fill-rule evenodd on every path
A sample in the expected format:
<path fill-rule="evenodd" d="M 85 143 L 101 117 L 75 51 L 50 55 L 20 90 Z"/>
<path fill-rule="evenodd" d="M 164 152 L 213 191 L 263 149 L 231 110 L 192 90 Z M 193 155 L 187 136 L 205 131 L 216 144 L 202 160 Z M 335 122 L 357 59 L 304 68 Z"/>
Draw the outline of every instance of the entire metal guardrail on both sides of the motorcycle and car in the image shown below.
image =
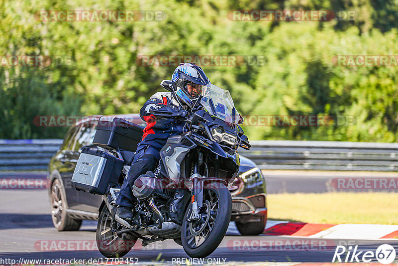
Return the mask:
<path fill-rule="evenodd" d="M 0 139 L 0 170 L 45 170 L 62 139 Z M 398 171 L 398 143 L 251 141 L 239 153 L 261 169 Z"/>

